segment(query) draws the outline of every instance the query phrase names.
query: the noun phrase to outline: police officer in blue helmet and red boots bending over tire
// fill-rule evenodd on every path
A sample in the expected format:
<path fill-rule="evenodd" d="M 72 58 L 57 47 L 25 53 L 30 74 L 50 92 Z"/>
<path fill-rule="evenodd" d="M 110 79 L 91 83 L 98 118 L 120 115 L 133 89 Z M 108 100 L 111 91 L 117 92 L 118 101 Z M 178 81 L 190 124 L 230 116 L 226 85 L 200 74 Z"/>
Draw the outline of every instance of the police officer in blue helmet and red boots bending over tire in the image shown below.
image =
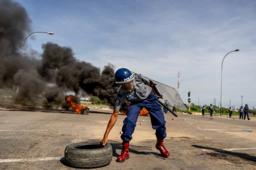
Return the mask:
<path fill-rule="evenodd" d="M 116 95 L 113 113 L 107 124 L 101 145 L 108 141 L 108 134 L 114 126 L 118 111 L 123 100 L 130 102 L 127 117 L 123 120 L 122 126 L 122 151 L 116 162 L 124 162 L 129 158 L 129 141 L 132 139 L 140 110 L 144 107 L 149 112 L 152 128 L 155 129 L 156 145 L 165 158 L 169 157 L 168 151 L 163 146 L 163 139 L 166 137 L 165 121 L 162 109 L 157 101 L 157 96 L 151 92 L 150 82 L 142 75 L 133 75 L 128 69 L 120 68 L 114 75 L 115 83 L 119 85 Z"/>

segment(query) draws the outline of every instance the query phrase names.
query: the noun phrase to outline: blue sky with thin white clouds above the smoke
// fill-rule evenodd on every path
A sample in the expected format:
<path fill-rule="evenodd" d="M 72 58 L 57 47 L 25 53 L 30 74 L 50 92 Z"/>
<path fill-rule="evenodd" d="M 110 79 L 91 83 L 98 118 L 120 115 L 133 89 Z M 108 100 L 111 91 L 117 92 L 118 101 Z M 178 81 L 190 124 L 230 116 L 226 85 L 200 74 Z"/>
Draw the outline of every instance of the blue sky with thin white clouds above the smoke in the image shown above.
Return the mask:
<path fill-rule="evenodd" d="M 80 61 L 111 63 L 177 89 L 187 103 L 256 108 L 255 0 L 16 0 L 31 18 L 27 49 L 70 47 Z"/>

